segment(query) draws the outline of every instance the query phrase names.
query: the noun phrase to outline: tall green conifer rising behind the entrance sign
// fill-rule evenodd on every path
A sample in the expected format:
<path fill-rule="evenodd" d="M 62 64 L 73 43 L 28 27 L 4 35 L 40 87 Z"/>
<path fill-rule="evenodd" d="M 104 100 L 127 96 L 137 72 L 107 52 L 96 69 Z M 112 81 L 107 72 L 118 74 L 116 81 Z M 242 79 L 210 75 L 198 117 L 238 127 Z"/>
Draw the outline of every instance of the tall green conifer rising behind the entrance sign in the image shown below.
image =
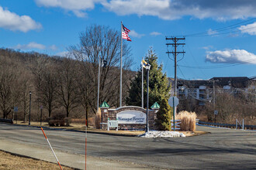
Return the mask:
<path fill-rule="evenodd" d="M 145 60 L 150 64 L 149 73 L 149 107 L 157 102 L 161 104 L 162 99 L 170 97 L 171 86 L 168 83 L 166 73 L 162 73 L 163 65 L 158 65 L 157 54 L 150 48 L 145 56 Z M 142 70 L 137 72 L 137 75 L 131 82 L 129 96 L 126 99 L 126 104 L 130 106 L 141 106 L 141 74 Z M 147 70 L 144 68 L 144 107 L 147 106 Z"/>

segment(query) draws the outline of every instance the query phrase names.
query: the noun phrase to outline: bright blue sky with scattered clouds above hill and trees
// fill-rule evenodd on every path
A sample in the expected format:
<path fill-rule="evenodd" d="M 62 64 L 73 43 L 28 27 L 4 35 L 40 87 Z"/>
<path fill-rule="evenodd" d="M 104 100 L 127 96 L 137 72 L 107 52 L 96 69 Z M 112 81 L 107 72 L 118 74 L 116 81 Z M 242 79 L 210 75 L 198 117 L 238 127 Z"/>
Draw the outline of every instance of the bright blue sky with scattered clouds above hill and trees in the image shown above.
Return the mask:
<path fill-rule="evenodd" d="M 86 26 L 119 30 L 123 21 L 131 30 L 132 70 L 153 46 L 173 77 L 165 36 L 185 36 L 178 77 L 250 77 L 256 74 L 255 17 L 254 0 L 0 0 L 0 46 L 63 55 Z"/>

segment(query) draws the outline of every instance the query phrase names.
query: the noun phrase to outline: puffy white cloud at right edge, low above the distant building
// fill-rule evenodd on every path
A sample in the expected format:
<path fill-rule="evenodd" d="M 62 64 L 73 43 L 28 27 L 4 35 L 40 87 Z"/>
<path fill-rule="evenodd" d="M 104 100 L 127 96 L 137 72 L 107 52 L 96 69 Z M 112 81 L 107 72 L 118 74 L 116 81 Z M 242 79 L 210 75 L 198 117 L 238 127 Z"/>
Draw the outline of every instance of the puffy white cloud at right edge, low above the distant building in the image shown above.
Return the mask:
<path fill-rule="evenodd" d="M 211 63 L 253 63 L 256 64 L 256 55 L 244 49 L 227 49 L 225 51 L 208 52 L 206 61 Z"/>

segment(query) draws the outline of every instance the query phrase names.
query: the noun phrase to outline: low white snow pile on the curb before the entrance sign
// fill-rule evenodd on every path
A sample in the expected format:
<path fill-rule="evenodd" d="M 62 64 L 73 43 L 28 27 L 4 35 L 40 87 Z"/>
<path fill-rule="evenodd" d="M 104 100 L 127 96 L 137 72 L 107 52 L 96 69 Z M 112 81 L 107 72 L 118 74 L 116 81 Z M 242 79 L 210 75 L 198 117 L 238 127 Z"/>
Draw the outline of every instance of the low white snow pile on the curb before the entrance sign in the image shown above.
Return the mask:
<path fill-rule="evenodd" d="M 174 138 L 185 137 L 185 134 L 178 131 L 147 131 L 145 134 L 138 135 L 140 138 Z"/>

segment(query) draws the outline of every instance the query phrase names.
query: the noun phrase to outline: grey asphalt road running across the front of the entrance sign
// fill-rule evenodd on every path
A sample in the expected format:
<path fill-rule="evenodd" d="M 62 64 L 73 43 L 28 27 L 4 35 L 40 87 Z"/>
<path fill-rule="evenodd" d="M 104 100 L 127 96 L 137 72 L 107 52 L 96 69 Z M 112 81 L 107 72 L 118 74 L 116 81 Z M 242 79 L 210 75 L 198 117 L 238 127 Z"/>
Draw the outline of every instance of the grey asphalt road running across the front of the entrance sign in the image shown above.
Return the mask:
<path fill-rule="evenodd" d="M 197 127 L 189 138 L 88 134 L 88 155 L 163 169 L 256 169 L 256 131 Z M 46 130 L 54 149 L 85 155 L 85 133 Z M 39 128 L 0 124 L 0 139 L 48 148 Z"/>

